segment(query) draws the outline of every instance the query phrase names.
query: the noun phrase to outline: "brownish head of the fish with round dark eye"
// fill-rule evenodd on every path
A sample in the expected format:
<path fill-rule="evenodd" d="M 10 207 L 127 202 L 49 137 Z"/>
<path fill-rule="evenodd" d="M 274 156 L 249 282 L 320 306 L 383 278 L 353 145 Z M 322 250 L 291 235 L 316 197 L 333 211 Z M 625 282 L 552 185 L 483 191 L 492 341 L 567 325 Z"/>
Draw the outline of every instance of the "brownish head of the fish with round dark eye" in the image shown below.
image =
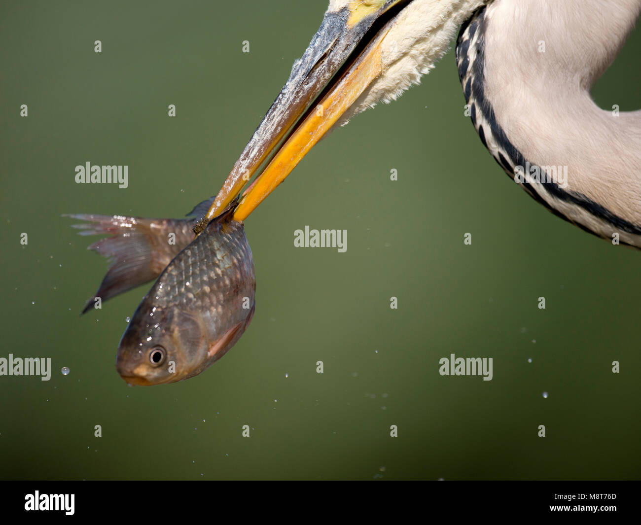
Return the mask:
<path fill-rule="evenodd" d="M 174 383 L 200 371 L 210 346 L 199 317 L 143 301 L 122 335 L 116 368 L 130 385 Z"/>

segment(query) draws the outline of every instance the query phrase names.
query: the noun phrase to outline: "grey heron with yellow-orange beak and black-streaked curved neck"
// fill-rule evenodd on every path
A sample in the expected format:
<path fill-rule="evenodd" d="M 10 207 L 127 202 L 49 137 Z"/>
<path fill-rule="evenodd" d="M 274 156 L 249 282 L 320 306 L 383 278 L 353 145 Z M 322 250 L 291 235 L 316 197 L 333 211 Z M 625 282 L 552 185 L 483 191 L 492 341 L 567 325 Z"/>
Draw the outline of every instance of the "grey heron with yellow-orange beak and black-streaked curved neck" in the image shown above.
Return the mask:
<path fill-rule="evenodd" d="M 420 82 L 456 37 L 483 145 L 563 219 L 641 247 L 641 111 L 601 110 L 590 88 L 641 0 L 331 0 L 319 31 L 196 233 L 242 192 L 246 219 L 329 131 Z"/>

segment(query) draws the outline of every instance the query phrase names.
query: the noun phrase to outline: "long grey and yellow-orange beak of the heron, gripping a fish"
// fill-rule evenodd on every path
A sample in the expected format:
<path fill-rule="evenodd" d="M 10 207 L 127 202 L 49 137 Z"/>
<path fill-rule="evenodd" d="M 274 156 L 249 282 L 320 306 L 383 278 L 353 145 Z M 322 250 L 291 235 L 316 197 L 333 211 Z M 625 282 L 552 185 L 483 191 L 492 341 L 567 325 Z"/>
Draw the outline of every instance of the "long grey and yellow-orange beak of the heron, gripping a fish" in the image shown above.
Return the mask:
<path fill-rule="evenodd" d="M 394 17 L 412 0 L 351 0 L 328 11 L 303 57 L 254 131 L 199 233 L 241 192 L 234 218 L 243 221 L 290 174 L 340 116 L 381 73 L 381 42 Z M 331 7 L 330 7 L 331 8 Z"/>

